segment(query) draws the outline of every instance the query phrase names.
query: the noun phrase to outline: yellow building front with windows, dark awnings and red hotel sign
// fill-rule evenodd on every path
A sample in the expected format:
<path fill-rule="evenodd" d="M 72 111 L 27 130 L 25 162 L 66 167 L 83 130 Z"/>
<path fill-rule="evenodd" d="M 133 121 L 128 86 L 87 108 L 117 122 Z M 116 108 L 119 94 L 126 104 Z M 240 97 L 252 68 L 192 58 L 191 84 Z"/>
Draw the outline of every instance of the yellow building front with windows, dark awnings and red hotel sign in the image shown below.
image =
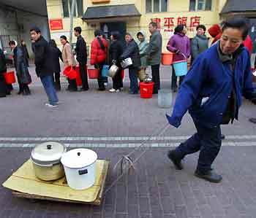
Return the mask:
<path fill-rule="evenodd" d="M 69 37 L 70 0 L 47 0 L 50 36 L 59 42 L 59 36 Z M 111 31 L 129 32 L 136 36 L 144 31 L 148 37 L 148 23 L 157 23 L 163 36 L 163 49 L 181 23 L 187 25 L 188 36 L 196 34 L 196 26 L 207 28 L 219 23 L 219 13 L 226 0 L 76 0 L 74 26 L 81 26 L 82 35 L 90 44 L 94 30 L 102 29 L 106 36 Z M 73 42 L 75 39 L 73 38 Z"/>

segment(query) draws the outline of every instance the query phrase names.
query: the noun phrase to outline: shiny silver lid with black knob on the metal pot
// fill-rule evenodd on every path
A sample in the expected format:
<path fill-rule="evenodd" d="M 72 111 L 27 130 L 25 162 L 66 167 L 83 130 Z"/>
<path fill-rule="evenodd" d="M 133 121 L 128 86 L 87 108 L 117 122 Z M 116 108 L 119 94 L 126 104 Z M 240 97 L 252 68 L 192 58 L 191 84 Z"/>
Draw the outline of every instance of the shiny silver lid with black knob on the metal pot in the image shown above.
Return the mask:
<path fill-rule="evenodd" d="M 38 144 L 31 152 L 31 159 L 34 163 L 41 165 L 49 165 L 58 163 L 61 160 L 61 156 L 67 149 L 63 144 L 58 142 L 49 141 L 42 144 Z"/>

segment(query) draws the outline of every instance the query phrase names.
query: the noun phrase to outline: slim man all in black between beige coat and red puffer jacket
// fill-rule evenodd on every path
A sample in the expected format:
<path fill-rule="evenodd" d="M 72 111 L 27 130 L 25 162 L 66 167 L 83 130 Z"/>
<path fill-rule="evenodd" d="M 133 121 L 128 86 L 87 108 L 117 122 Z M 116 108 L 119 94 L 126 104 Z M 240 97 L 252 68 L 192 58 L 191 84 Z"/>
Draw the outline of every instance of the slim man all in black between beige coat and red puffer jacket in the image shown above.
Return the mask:
<path fill-rule="evenodd" d="M 86 72 L 87 48 L 86 48 L 86 42 L 81 36 L 81 32 L 82 32 L 82 29 L 80 28 L 80 26 L 77 26 L 74 28 L 74 34 L 78 38 L 77 43 L 75 45 L 75 53 L 77 55 L 76 58 L 79 63 L 80 77 L 82 79 L 82 84 L 83 84 L 83 87 L 81 90 L 87 91 L 89 90 L 88 77 Z"/>

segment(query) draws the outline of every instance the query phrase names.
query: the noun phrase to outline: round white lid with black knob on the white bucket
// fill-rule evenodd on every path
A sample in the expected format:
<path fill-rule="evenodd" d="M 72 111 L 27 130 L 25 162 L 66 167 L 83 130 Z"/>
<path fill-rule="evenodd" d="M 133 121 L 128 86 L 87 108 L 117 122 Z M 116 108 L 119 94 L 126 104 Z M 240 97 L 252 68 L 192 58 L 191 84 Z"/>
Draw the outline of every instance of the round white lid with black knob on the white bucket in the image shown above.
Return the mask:
<path fill-rule="evenodd" d="M 61 157 L 61 163 L 68 168 L 83 168 L 95 163 L 97 153 L 90 149 L 72 149 L 64 153 Z"/>

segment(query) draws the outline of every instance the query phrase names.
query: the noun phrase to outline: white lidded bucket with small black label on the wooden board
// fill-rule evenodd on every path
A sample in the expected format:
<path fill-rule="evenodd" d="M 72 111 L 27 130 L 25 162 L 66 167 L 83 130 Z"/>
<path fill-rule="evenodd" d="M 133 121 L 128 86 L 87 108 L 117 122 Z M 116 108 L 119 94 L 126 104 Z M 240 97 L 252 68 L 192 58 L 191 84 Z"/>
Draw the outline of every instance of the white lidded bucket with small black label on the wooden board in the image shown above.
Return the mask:
<path fill-rule="evenodd" d="M 72 149 L 64 153 L 61 163 L 67 184 L 74 190 L 85 190 L 94 185 L 97 153 L 90 149 Z"/>

